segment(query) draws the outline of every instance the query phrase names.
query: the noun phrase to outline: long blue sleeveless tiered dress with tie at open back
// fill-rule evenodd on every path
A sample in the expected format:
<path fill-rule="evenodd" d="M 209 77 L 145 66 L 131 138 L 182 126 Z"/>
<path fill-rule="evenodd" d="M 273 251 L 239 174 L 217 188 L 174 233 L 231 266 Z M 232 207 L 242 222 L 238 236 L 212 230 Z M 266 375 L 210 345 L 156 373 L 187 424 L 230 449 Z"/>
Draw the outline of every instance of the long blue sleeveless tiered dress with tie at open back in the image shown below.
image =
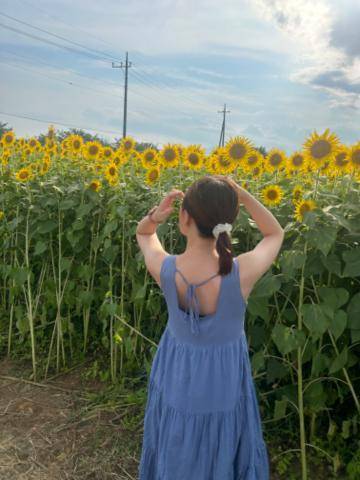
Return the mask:
<path fill-rule="evenodd" d="M 268 480 L 269 459 L 244 332 L 239 263 L 221 277 L 214 314 L 199 315 L 196 287 L 163 260 L 168 321 L 148 381 L 139 480 Z M 186 312 L 175 273 L 187 283 Z"/>

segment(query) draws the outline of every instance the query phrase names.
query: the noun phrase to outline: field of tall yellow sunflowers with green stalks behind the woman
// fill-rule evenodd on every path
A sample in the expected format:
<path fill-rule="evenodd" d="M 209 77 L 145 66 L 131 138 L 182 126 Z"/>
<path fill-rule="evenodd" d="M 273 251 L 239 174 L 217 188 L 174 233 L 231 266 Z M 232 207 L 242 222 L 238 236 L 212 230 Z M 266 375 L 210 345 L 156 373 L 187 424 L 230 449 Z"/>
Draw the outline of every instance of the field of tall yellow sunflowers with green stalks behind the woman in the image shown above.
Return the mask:
<path fill-rule="evenodd" d="M 327 478 L 360 478 L 360 141 L 314 131 L 288 156 L 236 136 L 207 153 L 139 149 L 131 137 L 60 141 L 50 126 L 43 142 L 6 131 L 0 154 L 2 356 L 28 359 L 36 381 L 95 353 L 103 380 L 146 385 L 167 310 L 137 223 L 171 188 L 231 176 L 285 230 L 245 323 L 279 478 L 295 460 L 306 471 L 310 456 Z M 185 247 L 177 221 L 157 229 L 171 253 Z M 240 208 L 234 255 L 261 238 Z"/>

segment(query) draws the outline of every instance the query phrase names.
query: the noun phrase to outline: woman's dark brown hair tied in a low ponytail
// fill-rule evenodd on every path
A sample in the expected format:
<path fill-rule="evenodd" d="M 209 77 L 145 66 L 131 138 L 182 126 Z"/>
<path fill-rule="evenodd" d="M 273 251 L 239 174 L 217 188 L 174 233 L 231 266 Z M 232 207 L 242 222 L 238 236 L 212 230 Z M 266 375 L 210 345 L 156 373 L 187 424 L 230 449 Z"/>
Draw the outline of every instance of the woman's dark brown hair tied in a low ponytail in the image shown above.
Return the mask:
<path fill-rule="evenodd" d="M 194 219 L 199 234 L 204 238 L 214 238 L 213 228 L 218 223 L 232 224 L 239 212 L 240 200 L 238 185 L 224 175 L 205 175 L 186 190 L 181 208 Z M 216 240 L 219 254 L 220 275 L 231 272 L 233 249 L 227 232 L 221 232 Z"/>

